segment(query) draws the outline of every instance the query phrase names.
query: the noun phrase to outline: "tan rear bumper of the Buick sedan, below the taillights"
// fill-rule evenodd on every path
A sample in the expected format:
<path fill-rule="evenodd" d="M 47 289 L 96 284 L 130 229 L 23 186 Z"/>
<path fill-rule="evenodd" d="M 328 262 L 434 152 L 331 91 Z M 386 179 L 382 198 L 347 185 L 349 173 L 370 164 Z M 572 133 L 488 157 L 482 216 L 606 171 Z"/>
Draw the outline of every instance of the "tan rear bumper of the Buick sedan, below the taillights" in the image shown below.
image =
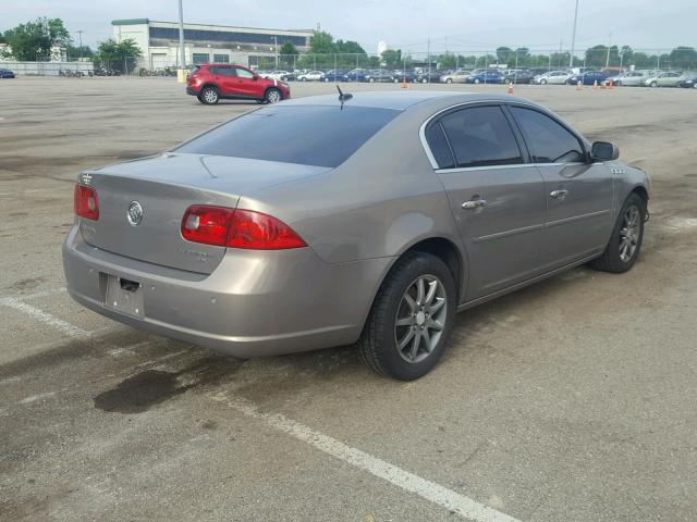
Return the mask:
<path fill-rule="evenodd" d="M 73 299 L 136 328 L 240 358 L 355 343 L 391 258 L 329 264 L 311 249 L 230 249 L 210 275 L 97 249 L 80 229 L 63 244 Z M 108 275 L 139 282 L 143 318 L 105 306 Z"/>

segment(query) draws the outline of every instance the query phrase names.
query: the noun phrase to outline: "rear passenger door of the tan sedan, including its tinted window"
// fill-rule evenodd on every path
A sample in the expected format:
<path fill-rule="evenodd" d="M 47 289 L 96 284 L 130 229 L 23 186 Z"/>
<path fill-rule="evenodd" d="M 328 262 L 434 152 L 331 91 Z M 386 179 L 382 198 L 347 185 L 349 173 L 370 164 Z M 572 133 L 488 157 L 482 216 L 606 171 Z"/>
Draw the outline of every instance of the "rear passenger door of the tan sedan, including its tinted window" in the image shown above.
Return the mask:
<path fill-rule="evenodd" d="M 525 163 L 522 138 L 501 107 L 451 111 L 429 124 L 426 137 L 467 250 L 466 299 L 539 273 L 542 177 Z"/>

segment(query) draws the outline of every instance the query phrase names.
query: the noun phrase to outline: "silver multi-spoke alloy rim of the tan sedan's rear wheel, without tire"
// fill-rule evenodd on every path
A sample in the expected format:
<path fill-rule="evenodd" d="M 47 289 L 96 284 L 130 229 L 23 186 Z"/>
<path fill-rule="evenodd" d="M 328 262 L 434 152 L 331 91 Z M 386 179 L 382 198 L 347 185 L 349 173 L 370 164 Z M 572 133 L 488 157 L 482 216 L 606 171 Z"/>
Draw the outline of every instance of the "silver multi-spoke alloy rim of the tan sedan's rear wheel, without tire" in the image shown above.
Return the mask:
<path fill-rule="evenodd" d="M 396 310 L 394 339 L 402 359 L 417 363 L 438 346 L 448 314 L 445 287 L 435 275 L 420 275 L 406 287 Z"/>

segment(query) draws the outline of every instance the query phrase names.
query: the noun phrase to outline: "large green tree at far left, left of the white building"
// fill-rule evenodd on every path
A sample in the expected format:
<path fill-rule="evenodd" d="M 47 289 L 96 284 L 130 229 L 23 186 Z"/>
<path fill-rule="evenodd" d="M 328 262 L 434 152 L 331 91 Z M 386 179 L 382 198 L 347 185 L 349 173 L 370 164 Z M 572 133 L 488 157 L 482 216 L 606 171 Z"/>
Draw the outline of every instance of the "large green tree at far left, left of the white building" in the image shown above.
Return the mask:
<path fill-rule="evenodd" d="M 48 61 L 53 47 L 65 47 L 71 42 L 63 21 L 47 17 L 5 30 L 4 39 L 12 49 L 12 55 L 26 62 Z"/>

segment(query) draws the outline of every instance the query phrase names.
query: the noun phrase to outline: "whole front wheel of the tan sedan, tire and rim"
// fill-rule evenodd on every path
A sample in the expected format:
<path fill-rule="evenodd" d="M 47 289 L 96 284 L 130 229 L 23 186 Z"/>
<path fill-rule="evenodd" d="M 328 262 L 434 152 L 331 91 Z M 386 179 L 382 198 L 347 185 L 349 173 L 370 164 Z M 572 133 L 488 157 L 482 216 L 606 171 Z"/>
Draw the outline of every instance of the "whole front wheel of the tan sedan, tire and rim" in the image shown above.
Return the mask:
<path fill-rule="evenodd" d="M 646 201 L 636 192 L 629 195 L 610 236 L 604 252 L 590 262 L 590 266 L 603 272 L 627 272 L 639 256 L 644 239 Z"/>

